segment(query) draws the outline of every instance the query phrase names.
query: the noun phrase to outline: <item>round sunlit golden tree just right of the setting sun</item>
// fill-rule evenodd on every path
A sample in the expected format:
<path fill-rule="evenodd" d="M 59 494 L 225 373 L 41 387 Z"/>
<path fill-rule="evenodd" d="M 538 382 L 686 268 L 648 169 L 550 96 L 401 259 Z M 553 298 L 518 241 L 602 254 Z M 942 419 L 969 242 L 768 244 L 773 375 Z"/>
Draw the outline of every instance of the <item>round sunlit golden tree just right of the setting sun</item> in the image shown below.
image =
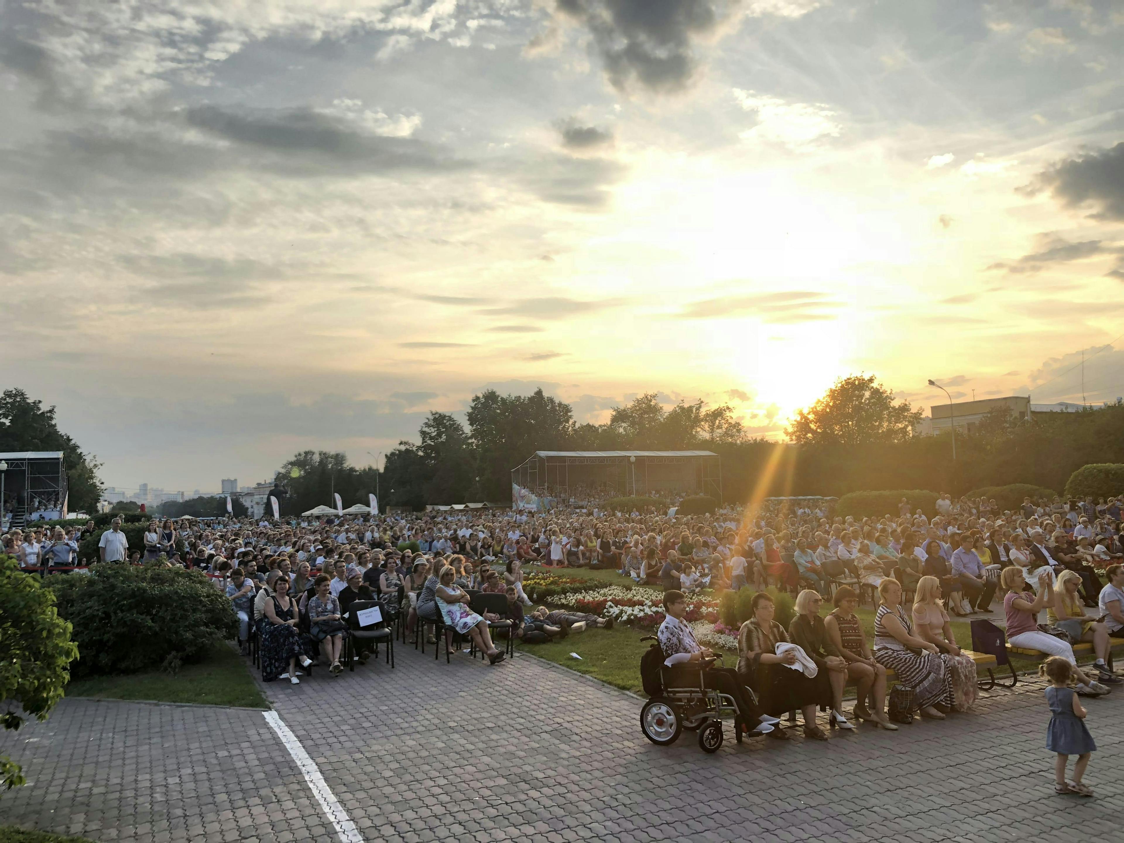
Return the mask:
<path fill-rule="evenodd" d="M 907 442 L 922 410 L 894 404 L 894 392 L 874 375 L 841 378 L 810 408 L 799 410 L 788 437 L 799 445 L 867 445 Z"/>

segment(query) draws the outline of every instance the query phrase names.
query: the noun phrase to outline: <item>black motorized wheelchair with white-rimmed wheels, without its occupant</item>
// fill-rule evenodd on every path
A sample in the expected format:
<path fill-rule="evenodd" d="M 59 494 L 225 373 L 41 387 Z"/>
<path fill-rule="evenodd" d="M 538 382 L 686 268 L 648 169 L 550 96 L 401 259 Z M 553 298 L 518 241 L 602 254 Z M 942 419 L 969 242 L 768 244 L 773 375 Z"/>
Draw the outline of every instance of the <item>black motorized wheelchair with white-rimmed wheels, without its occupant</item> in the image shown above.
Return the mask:
<path fill-rule="evenodd" d="M 646 635 L 641 641 L 656 638 L 654 635 Z M 660 644 L 656 642 L 650 652 L 659 649 Z M 644 687 L 650 694 L 640 713 L 640 727 L 644 737 L 658 746 L 670 746 L 679 740 L 683 729 L 698 731 L 699 749 L 703 752 L 717 752 L 723 742 L 722 722 L 733 719 L 735 740 L 741 743 L 742 718 L 737 704 L 728 694 L 707 688 L 704 681 L 704 671 L 715 662 L 720 662 L 722 656 L 674 668 L 663 664 L 662 652 L 658 656 L 658 679 L 653 670 L 655 659 L 647 665 L 642 660 L 641 672 L 649 673 L 644 677 Z M 650 670 L 645 671 L 645 668 Z M 659 688 L 655 687 L 656 682 Z"/>

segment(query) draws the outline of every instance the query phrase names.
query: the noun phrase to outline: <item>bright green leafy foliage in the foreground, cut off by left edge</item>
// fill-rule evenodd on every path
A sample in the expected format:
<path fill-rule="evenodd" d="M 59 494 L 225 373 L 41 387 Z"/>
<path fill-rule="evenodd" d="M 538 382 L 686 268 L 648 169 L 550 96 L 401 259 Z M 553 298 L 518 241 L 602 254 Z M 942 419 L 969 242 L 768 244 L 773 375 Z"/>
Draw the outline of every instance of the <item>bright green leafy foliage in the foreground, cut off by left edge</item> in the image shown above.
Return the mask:
<path fill-rule="evenodd" d="M 18 729 L 25 718 L 12 704 L 38 720 L 47 719 L 70 680 L 78 658 L 71 625 L 58 617 L 55 598 L 38 577 L 22 573 L 11 556 L 0 555 L 0 715 L 6 729 Z M 19 764 L 0 755 L 0 781 L 7 789 L 24 783 Z"/>

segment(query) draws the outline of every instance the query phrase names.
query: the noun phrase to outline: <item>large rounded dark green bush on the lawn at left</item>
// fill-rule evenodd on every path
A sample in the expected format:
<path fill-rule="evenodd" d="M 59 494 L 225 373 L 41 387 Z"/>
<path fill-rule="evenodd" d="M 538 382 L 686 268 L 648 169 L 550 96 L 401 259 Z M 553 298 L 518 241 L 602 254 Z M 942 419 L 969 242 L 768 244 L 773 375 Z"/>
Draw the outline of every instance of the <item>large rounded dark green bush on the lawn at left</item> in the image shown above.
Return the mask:
<path fill-rule="evenodd" d="M 230 600 L 200 571 L 107 563 L 45 583 L 74 627 L 76 677 L 197 661 L 238 632 Z"/>

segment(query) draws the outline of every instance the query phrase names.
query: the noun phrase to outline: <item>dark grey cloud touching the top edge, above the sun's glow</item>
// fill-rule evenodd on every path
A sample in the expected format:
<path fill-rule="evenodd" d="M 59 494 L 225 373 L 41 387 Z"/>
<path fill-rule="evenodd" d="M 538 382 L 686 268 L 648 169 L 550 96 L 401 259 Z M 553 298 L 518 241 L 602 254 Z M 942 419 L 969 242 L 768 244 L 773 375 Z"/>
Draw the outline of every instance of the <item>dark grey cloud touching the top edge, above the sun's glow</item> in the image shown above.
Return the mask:
<path fill-rule="evenodd" d="M 737 3 L 720 0 L 556 0 L 558 10 L 584 26 L 618 90 L 686 88 L 698 72 L 695 44 L 715 35 Z"/>

